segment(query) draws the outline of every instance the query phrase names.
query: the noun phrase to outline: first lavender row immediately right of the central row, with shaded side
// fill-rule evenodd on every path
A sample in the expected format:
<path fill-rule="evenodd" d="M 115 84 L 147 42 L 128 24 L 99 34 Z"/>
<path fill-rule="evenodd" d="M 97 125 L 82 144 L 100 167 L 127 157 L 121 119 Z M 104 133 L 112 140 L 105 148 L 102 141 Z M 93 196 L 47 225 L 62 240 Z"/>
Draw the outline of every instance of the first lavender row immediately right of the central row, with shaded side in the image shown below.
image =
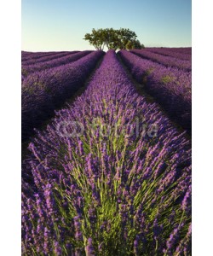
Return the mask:
<path fill-rule="evenodd" d="M 173 120 L 191 133 L 192 73 L 164 67 L 126 50 L 119 51 L 130 73 L 164 107 Z"/>

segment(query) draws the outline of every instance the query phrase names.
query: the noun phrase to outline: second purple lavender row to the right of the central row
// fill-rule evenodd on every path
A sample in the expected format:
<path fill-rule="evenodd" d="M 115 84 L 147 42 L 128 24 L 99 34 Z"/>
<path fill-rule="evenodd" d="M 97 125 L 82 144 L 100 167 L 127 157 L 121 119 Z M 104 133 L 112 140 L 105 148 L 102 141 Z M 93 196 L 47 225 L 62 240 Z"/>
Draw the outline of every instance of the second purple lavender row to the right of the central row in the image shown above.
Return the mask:
<path fill-rule="evenodd" d="M 130 52 L 147 60 L 163 64 L 165 67 L 177 67 L 184 71 L 192 71 L 191 61 L 184 61 L 170 56 L 158 55 L 147 49 L 133 49 L 130 50 Z"/>

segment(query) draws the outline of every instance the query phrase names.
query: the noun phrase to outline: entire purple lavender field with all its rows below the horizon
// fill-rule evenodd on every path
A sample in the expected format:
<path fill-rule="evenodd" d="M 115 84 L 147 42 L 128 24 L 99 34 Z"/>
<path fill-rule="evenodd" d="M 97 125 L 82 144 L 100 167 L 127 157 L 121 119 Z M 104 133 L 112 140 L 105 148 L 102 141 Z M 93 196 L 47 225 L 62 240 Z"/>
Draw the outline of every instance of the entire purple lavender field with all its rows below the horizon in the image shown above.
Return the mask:
<path fill-rule="evenodd" d="M 191 59 L 21 52 L 22 255 L 192 254 Z"/>

